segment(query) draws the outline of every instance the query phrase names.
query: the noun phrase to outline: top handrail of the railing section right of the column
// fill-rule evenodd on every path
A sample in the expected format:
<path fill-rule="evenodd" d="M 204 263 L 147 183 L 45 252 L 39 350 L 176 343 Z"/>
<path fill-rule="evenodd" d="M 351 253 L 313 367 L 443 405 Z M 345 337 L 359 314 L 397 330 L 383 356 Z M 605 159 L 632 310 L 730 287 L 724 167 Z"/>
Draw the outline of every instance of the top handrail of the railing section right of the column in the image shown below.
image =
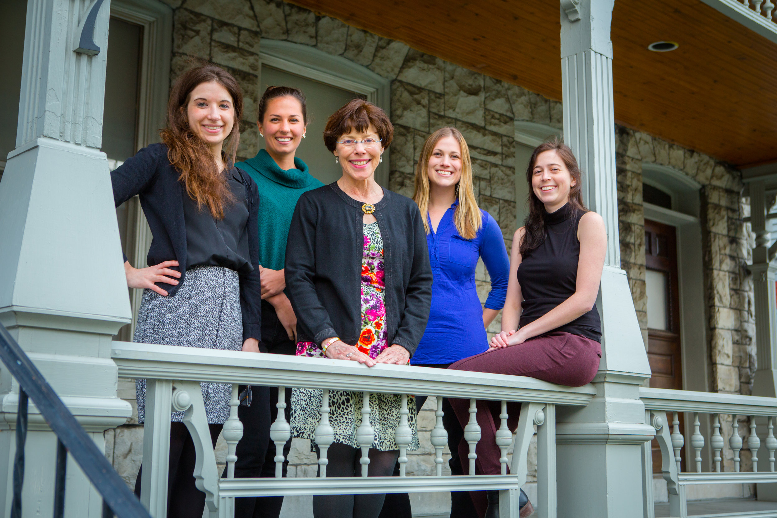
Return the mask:
<path fill-rule="evenodd" d="M 777 415 L 777 398 L 762 398 L 717 392 L 639 388 L 639 398 L 648 410 L 703 412 L 709 414 Z"/>

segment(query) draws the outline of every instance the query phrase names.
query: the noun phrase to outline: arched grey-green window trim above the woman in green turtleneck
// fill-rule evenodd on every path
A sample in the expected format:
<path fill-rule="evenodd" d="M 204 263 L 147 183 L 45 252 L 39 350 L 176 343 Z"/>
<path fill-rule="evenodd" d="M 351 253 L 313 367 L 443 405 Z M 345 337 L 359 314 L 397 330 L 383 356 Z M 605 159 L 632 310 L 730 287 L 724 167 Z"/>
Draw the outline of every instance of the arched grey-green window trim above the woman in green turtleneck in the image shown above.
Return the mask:
<path fill-rule="evenodd" d="M 367 97 L 370 103 L 380 106 L 391 116 L 391 82 L 370 69 L 342 56 L 327 54 L 315 47 L 283 40 L 260 40 L 261 64 L 278 68 L 290 74 L 356 92 Z M 263 92 L 262 73 L 259 73 L 259 92 Z M 391 147 L 383 152 L 383 162 L 375 171 L 375 181 L 389 186 Z"/>

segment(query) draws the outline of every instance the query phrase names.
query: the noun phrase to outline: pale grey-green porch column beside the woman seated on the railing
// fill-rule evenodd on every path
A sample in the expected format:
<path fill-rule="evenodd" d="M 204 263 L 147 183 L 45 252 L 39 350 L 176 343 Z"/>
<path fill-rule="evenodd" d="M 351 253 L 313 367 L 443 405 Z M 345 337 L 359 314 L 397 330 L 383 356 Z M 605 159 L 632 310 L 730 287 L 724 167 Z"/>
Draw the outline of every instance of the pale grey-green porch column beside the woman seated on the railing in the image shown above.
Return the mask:
<path fill-rule="evenodd" d="M 650 377 L 631 290 L 620 267 L 610 24 L 615 0 L 561 0 L 564 140 L 584 172 L 584 201 L 605 220 L 597 308 L 602 357 L 586 408 L 557 412 L 559 516 L 645 516 L 645 423 L 639 385 Z M 648 457 L 649 458 L 649 457 Z M 652 504 L 652 502 L 650 502 Z"/>

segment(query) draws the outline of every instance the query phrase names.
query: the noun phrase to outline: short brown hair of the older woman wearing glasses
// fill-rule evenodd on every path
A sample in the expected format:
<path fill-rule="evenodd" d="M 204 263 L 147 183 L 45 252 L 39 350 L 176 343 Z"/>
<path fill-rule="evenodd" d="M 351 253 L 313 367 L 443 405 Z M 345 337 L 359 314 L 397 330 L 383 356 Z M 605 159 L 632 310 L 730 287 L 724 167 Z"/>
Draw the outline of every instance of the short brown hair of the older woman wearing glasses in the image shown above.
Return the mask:
<path fill-rule="evenodd" d="M 364 99 L 354 99 L 329 116 L 324 128 L 324 144 L 334 152 L 340 137 L 350 130 L 367 131 L 370 124 L 378 132 L 382 146 L 388 148 L 394 138 L 394 126 L 385 111 Z"/>

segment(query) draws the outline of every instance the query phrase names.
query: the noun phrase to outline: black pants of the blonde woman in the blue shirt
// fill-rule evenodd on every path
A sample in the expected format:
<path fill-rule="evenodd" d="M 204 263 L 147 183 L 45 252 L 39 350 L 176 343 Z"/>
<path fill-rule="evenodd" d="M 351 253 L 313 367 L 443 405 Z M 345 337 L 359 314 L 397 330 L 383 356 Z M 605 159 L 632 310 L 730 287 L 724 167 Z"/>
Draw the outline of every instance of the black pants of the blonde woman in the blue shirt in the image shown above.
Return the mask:
<path fill-rule="evenodd" d="M 451 363 L 431 363 L 416 367 L 433 367 L 447 369 Z M 420 412 L 427 396 L 416 396 L 416 412 Z M 458 457 L 458 443 L 464 438 L 464 429 L 456 419 L 448 398 L 442 400 L 442 423 L 448 431 L 448 449 L 451 450 L 451 459 L 448 465 L 451 467 L 451 475 L 464 475 L 462 461 Z M 399 463 L 394 468 L 394 476 L 399 476 Z M 383 502 L 383 510 L 378 518 L 412 518 L 413 509 L 410 507 L 410 497 L 407 493 L 389 493 Z M 451 491 L 451 518 L 478 518 L 475 506 L 472 505 L 469 491 Z"/>

